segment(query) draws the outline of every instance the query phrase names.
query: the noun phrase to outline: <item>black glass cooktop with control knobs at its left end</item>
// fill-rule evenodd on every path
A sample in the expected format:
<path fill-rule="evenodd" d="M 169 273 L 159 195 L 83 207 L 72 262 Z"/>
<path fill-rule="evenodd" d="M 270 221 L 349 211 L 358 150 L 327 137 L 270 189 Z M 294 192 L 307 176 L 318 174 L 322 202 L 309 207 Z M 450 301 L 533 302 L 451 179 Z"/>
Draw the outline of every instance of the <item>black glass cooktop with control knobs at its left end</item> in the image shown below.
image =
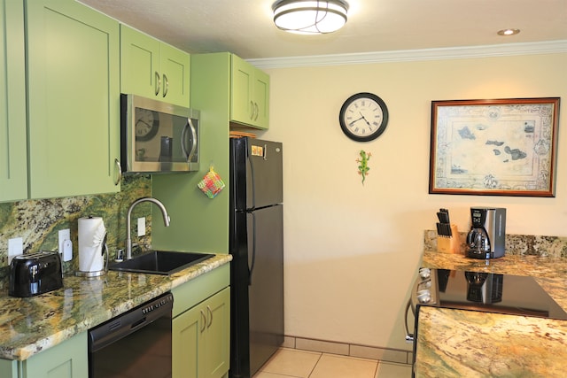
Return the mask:
<path fill-rule="evenodd" d="M 430 278 L 420 278 L 416 292 L 431 291 L 431 300 L 416 305 L 567 320 L 533 277 L 431 269 Z"/>

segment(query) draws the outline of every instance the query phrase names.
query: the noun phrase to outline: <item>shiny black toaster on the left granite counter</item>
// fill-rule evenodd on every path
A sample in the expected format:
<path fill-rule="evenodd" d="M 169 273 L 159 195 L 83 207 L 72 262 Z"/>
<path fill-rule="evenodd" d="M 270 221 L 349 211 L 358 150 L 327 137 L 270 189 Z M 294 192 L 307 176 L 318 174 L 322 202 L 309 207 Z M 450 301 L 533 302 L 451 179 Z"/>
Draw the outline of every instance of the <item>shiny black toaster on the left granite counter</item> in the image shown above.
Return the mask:
<path fill-rule="evenodd" d="M 11 297 L 33 297 L 62 287 L 58 252 L 39 251 L 12 258 L 8 289 Z"/>

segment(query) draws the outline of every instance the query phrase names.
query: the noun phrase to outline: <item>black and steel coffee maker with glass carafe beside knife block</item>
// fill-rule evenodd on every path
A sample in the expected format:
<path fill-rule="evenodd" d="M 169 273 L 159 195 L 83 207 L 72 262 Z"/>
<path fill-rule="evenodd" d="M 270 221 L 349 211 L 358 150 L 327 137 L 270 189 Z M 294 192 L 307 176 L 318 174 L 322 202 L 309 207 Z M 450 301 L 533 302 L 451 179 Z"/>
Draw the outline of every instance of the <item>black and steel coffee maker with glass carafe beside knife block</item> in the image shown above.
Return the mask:
<path fill-rule="evenodd" d="M 506 251 L 506 209 L 471 207 L 467 257 L 501 258 Z"/>

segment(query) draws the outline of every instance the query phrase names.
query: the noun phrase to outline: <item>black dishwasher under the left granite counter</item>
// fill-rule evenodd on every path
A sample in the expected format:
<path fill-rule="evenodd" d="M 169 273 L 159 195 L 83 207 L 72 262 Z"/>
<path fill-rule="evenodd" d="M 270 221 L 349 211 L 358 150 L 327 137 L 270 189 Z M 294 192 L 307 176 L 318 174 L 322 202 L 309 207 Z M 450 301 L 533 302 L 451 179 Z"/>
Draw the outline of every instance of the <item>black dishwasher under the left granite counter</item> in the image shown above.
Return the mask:
<path fill-rule="evenodd" d="M 89 378 L 171 377 L 171 312 L 166 293 L 89 329 Z"/>

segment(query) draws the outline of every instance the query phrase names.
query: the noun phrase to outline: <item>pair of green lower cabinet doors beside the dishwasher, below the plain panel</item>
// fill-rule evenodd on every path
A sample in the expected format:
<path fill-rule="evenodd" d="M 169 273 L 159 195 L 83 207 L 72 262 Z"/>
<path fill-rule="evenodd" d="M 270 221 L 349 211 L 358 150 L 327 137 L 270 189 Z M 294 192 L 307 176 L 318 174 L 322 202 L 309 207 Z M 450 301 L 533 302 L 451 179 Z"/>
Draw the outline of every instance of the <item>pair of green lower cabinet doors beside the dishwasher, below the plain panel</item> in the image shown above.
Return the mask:
<path fill-rule="evenodd" d="M 230 288 L 173 320 L 174 378 L 220 378 L 229 371 Z"/>

